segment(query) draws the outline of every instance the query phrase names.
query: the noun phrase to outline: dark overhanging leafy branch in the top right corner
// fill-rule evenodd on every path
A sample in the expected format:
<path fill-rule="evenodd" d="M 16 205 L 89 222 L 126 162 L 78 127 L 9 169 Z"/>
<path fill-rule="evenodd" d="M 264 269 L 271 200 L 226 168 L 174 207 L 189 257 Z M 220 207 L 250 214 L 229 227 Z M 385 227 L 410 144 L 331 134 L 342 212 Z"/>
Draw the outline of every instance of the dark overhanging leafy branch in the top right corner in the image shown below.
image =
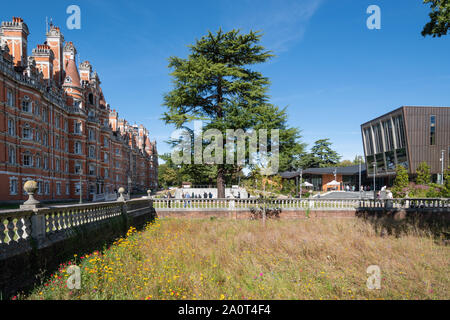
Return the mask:
<path fill-rule="evenodd" d="M 424 0 L 425 4 L 430 4 L 430 22 L 422 30 L 422 35 L 441 37 L 447 34 L 450 29 L 450 0 Z"/>

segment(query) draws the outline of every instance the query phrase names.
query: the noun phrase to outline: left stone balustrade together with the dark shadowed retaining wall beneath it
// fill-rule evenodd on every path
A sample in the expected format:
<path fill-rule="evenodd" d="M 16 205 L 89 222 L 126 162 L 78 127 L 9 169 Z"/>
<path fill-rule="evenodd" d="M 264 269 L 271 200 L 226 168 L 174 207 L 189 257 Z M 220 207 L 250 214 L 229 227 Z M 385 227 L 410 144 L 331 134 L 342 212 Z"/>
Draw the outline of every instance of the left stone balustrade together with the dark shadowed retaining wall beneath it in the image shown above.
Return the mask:
<path fill-rule="evenodd" d="M 0 211 L 0 297 L 32 285 L 40 270 L 51 272 L 74 253 L 101 247 L 156 216 L 150 197 L 127 200 L 123 188 L 116 201 L 48 207 L 34 199 L 34 181 L 24 189 L 29 199 L 20 209 Z"/>

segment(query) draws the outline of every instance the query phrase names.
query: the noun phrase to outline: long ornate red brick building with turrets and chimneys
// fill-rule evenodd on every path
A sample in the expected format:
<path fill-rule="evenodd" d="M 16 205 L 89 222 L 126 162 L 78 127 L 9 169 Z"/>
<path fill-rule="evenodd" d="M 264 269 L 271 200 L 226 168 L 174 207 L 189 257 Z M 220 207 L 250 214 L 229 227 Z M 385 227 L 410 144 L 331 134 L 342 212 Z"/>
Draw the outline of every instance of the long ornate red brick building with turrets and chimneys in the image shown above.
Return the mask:
<path fill-rule="evenodd" d="M 36 180 L 40 200 L 102 199 L 119 187 L 157 187 L 156 141 L 119 119 L 106 103 L 92 65 L 56 26 L 27 52 L 21 18 L 0 27 L 0 201 L 26 199 Z M 80 175 L 81 173 L 81 175 Z"/>

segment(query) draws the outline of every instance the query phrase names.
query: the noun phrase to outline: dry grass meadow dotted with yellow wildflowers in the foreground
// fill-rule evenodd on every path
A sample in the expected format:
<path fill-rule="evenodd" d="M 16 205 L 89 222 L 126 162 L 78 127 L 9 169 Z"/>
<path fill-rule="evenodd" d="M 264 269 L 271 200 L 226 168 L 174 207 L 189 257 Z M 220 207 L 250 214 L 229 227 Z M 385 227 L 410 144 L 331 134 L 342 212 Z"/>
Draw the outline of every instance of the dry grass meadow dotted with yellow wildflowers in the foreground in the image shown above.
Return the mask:
<path fill-rule="evenodd" d="M 449 299 L 449 247 L 357 219 L 162 219 L 66 265 L 27 299 Z M 369 265 L 381 289 L 366 286 Z"/>

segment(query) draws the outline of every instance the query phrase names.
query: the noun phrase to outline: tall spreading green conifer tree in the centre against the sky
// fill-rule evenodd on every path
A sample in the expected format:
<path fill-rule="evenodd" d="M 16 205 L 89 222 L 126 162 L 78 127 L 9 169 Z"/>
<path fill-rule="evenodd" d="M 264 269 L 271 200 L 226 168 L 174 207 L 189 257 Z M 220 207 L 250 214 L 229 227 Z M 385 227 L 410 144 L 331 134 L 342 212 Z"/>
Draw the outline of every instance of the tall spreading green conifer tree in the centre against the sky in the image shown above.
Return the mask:
<path fill-rule="evenodd" d="M 209 32 L 190 45 L 187 59 L 171 57 L 173 89 L 164 96 L 167 111 L 163 120 L 176 128 L 187 129 L 187 123 L 203 120 L 203 130 L 217 129 L 223 134 L 226 152 L 226 130 L 279 129 L 280 170 L 292 166 L 303 153 L 298 142 L 300 132 L 287 126 L 287 113 L 268 103 L 269 79 L 250 67 L 266 62 L 273 55 L 259 45 L 261 35 L 239 30 Z M 172 141 L 175 146 L 176 141 Z M 270 150 L 270 144 L 267 150 Z M 224 155 L 224 158 L 226 155 Z M 246 158 L 248 159 L 248 150 Z M 188 165 L 181 167 L 187 168 Z M 238 174 L 237 165 L 189 165 L 185 171 L 198 177 L 216 174 L 219 197 L 224 196 L 224 183 Z M 206 170 L 205 173 L 203 170 Z M 202 173 L 202 174 L 200 174 Z"/>

